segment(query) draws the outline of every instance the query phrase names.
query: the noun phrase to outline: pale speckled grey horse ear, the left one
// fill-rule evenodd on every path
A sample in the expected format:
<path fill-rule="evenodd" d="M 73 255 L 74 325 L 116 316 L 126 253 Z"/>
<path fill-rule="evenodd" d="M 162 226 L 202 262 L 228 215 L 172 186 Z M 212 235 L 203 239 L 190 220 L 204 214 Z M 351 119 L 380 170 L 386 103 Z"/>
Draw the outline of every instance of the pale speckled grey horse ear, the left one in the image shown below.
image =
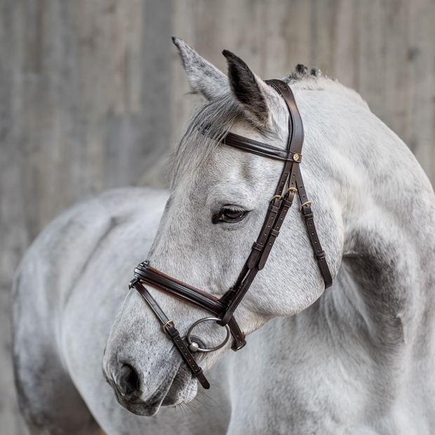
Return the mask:
<path fill-rule="evenodd" d="M 203 98 L 209 101 L 229 93 L 228 78 L 225 74 L 211 65 L 210 62 L 201 58 L 182 39 L 173 38 L 172 40 L 180 52 L 187 80 L 189 80 L 193 93 L 202 95 Z"/>

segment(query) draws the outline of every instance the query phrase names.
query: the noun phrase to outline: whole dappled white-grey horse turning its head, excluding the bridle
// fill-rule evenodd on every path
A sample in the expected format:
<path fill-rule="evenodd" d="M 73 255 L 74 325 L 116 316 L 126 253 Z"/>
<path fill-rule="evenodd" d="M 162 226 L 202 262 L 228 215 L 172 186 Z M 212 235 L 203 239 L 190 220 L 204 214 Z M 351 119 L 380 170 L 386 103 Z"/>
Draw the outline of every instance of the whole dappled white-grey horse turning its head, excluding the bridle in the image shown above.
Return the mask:
<path fill-rule="evenodd" d="M 74 206 L 18 270 L 15 375 L 32 434 L 91 434 L 98 425 L 109 435 L 432 434 L 434 192 L 366 102 L 316 70 L 299 66 L 286 81 L 304 122 L 301 170 L 333 286 L 324 291 L 295 203 L 236 310 L 247 346 L 199 356 L 212 380 L 207 396 L 139 293 L 126 293 L 148 258 L 220 297 L 282 169 L 198 130 L 207 123 L 285 148 L 283 99 L 236 56 L 227 53 L 227 78 L 175 44 L 206 102 L 174 154 L 170 191 L 119 189 Z M 208 315 L 149 292 L 181 333 Z M 222 330 L 201 323 L 195 333 L 211 347 Z"/>

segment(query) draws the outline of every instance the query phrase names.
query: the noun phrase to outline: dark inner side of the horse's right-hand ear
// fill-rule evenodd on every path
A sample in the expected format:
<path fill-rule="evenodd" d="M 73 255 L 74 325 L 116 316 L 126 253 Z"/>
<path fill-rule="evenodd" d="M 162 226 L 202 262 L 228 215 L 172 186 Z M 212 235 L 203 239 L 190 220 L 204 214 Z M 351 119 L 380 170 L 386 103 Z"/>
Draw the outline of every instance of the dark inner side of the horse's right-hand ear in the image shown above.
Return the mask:
<path fill-rule="evenodd" d="M 267 103 L 269 86 L 234 53 L 224 50 L 222 54 L 227 58 L 229 85 L 234 96 L 246 110 L 246 115 L 251 121 L 258 126 L 266 126 L 270 114 Z"/>

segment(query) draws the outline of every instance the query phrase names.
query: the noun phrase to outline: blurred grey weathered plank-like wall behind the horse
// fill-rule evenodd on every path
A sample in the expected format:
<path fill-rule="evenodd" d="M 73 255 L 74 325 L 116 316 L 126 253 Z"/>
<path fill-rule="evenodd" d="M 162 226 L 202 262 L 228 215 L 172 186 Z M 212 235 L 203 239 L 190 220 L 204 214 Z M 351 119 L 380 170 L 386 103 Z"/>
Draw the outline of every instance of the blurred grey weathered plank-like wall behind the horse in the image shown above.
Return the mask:
<path fill-rule="evenodd" d="M 435 181 L 433 0 L 0 0 L 1 435 L 25 434 L 13 272 L 74 202 L 165 185 L 166 156 L 197 104 L 173 35 L 224 71 L 223 48 L 263 78 L 320 67 L 359 91 Z"/>

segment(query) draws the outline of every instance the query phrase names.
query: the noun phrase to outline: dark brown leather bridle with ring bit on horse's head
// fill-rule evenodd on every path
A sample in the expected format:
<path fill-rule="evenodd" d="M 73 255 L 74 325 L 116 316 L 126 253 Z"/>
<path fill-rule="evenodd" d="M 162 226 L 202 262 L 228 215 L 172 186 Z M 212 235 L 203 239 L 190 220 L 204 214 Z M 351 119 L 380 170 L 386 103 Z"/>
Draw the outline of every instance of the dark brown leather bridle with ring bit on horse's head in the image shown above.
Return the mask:
<path fill-rule="evenodd" d="M 192 370 L 192 374 L 199 380 L 201 385 L 208 389 L 210 384 L 206 377 L 203 375 L 201 367 L 196 363 L 192 353 L 194 352 L 212 352 L 223 347 L 229 340 L 229 335 L 233 337 L 232 349 L 237 351 L 246 344 L 245 335 L 241 332 L 239 325 L 234 319 L 234 312 L 239 306 L 243 296 L 246 295 L 251 283 L 253 282 L 257 273 L 265 267 L 267 257 L 274 246 L 276 237 L 279 236 L 279 230 L 283 224 L 288 210 L 293 204 L 295 193 L 299 195 L 300 211 L 307 226 L 307 234 L 309 241 L 312 243 L 314 250 L 314 257 L 319 265 L 319 270 L 325 281 L 325 288 L 328 288 L 333 283 L 330 275 L 328 263 L 326 262 L 326 255 L 321 248 L 319 237 L 317 236 L 316 227 L 314 226 L 314 217 L 311 209 L 311 201 L 308 201 L 305 192 L 302 175 L 300 173 L 300 162 L 302 159 L 302 143 L 304 141 L 304 129 L 302 126 L 302 119 L 297 110 L 295 97 L 287 83 L 281 80 L 266 81 L 272 88 L 274 88 L 285 100 L 289 112 L 288 121 L 288 141 L 287 149 L 279 149 L 266 145 L 255 140 L 243 138 L 243 136 L 234 133 L 227 133 L 222 138 L 222 143 L 230 147 L 236 147 L 243 151 L 256 154 L 257 156 L 268 157 L 269 159 L 276 159 L 284 162 L 281 178 L 279 179 L 276 192 L 272 199 L 269 201 L 269 208 L 265 217 L 265 222 L 262 226 L 260 235 L 257 241 L 254 242 L 248 260 L 232 288 L 229 288 L 220 299 L 209 295 L 197 288 L 182 283 L 168 275 L 159 272 L 158 270 L 149 266 L 149 261 L 140 263 L 135 268 L 135 278 L 130 283 L 130 288 L 134 287 L 140 295 L 145 299 L 149 307 L 156 314 L 163 331 L 173 340 L 175 347 L 180 351 L 182 358 Z M 173 320 L 168 319 L 166 314 L 159 307 L 159 304 L 154 300 L 148 290 L 142 286 L 142 283 L 147 283 L 149 286 L 169 293 L 178 297 L 185 302 L 196 305 L 206 309 L 214 317 L 207 317 L 196 321 L 187 333 L 187 344 L 180 337 L 180 333 L 175 328 Z M 192 341 L 191 333 L 193 328 L 203 321 L 216 321 L 220 326 L 225 326 L 227 329 L 227 337 L 223 343 L 213 349 L 202 349 L 199 344 Z"/>

